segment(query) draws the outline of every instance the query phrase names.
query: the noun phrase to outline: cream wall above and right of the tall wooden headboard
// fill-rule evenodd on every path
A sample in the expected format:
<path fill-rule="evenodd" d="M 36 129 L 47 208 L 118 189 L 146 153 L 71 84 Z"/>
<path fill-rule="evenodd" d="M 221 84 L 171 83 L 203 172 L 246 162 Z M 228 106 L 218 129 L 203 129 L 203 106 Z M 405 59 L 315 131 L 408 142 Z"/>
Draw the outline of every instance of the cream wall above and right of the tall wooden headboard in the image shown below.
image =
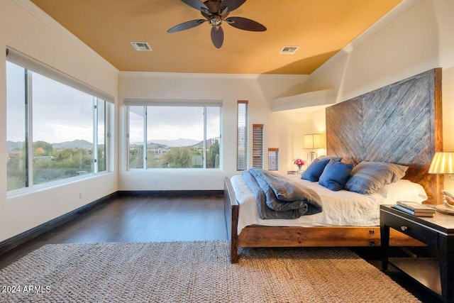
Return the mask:
<path fill-rule="evenodd" d="M 421 0 L 311 75 L 345 101 L 435 67 L 443 68 L 443 150 L 454 150 L 454 1 Z M 454 190 L 446 178 L 445 188 Z"/>

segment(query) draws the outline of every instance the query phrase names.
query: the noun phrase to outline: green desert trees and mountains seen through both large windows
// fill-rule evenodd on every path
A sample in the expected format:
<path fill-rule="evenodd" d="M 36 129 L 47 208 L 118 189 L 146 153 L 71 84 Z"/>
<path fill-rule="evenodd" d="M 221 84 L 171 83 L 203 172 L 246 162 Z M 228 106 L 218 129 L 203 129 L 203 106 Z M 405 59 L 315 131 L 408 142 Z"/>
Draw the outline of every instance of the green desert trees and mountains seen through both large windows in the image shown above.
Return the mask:
<path fill-rule="evenodd" d="M 131 143 L 129 168 L 218 168 L 220 138 L 204 141 L 179 138 L 176 140 L 148 141 L 144 157 L 143 143 Z M 8 190 L 26 184 L 26 151 L 24 142 L 6 141 L 8 151 Z M 93 143 L 74 140 L 61 143 L 33 142 L 33 184 L 41 184 L 67 177 L 105 171 L 104 144 L 98 145 L 94 161 Z M 144 162 L 146 160 L 146 163 Z"/>

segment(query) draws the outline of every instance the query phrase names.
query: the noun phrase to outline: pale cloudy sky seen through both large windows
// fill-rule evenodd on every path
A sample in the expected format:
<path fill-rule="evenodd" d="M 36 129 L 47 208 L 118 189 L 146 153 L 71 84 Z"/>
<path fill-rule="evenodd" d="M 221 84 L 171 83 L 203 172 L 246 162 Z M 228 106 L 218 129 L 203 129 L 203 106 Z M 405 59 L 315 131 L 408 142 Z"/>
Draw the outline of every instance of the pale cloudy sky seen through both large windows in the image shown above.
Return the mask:
<path fill-rule="evenodd" d="M 25 138 L 25 84 L 23 67 L 7 62 L 7 140 Z M 33 73 L 33 141 L 93 142 L 93 97 Z M 143 106 L 132 106 L 130 141 L 143 141 Z M 148 141 L 178 138 L 202 141 L 201 107 L 148 106 Z M 220 110 L 207 108 L 206 138 L 219 136 Z"/>

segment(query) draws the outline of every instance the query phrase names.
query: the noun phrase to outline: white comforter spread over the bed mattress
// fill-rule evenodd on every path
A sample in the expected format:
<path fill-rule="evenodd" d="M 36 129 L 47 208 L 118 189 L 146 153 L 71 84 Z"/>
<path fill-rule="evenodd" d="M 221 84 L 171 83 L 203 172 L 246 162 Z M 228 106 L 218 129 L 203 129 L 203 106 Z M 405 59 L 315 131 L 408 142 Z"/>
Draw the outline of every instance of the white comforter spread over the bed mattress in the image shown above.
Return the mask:
<path fill-rule="evenodd" d="M 300 175 L 284 177 L 300 178 Z M 301 216 L 298 219 L 260 219 L 255 196 L 243 180 L 243 176 L 231 177 L 233 191 L 240 204 L 238 234 L 248 225 L 263 226 L 378 226 L 380 225 L 380 204 L 395 204 L 397 200 L 423 202 L 427 199 L 421 185 L 408 180 L 388 184 L 375 194 L 357 194 L 341 190 L 333 192 L 317 182 L 301 180 L 304 185 L 315 189 L 321 197 L 323 211 L 319 214 Z"/>

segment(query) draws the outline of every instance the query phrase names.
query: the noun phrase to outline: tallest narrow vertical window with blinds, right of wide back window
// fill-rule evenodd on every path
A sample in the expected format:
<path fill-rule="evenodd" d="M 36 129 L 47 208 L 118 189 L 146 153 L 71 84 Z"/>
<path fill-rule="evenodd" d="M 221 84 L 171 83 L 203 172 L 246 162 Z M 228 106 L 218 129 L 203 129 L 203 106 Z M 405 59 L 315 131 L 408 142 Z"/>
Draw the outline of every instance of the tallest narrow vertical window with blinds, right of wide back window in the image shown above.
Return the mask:
<path fill-rule="evenodd" d="M 237 168 L 248 169 L 248 101 L 237 103 Z"/>

